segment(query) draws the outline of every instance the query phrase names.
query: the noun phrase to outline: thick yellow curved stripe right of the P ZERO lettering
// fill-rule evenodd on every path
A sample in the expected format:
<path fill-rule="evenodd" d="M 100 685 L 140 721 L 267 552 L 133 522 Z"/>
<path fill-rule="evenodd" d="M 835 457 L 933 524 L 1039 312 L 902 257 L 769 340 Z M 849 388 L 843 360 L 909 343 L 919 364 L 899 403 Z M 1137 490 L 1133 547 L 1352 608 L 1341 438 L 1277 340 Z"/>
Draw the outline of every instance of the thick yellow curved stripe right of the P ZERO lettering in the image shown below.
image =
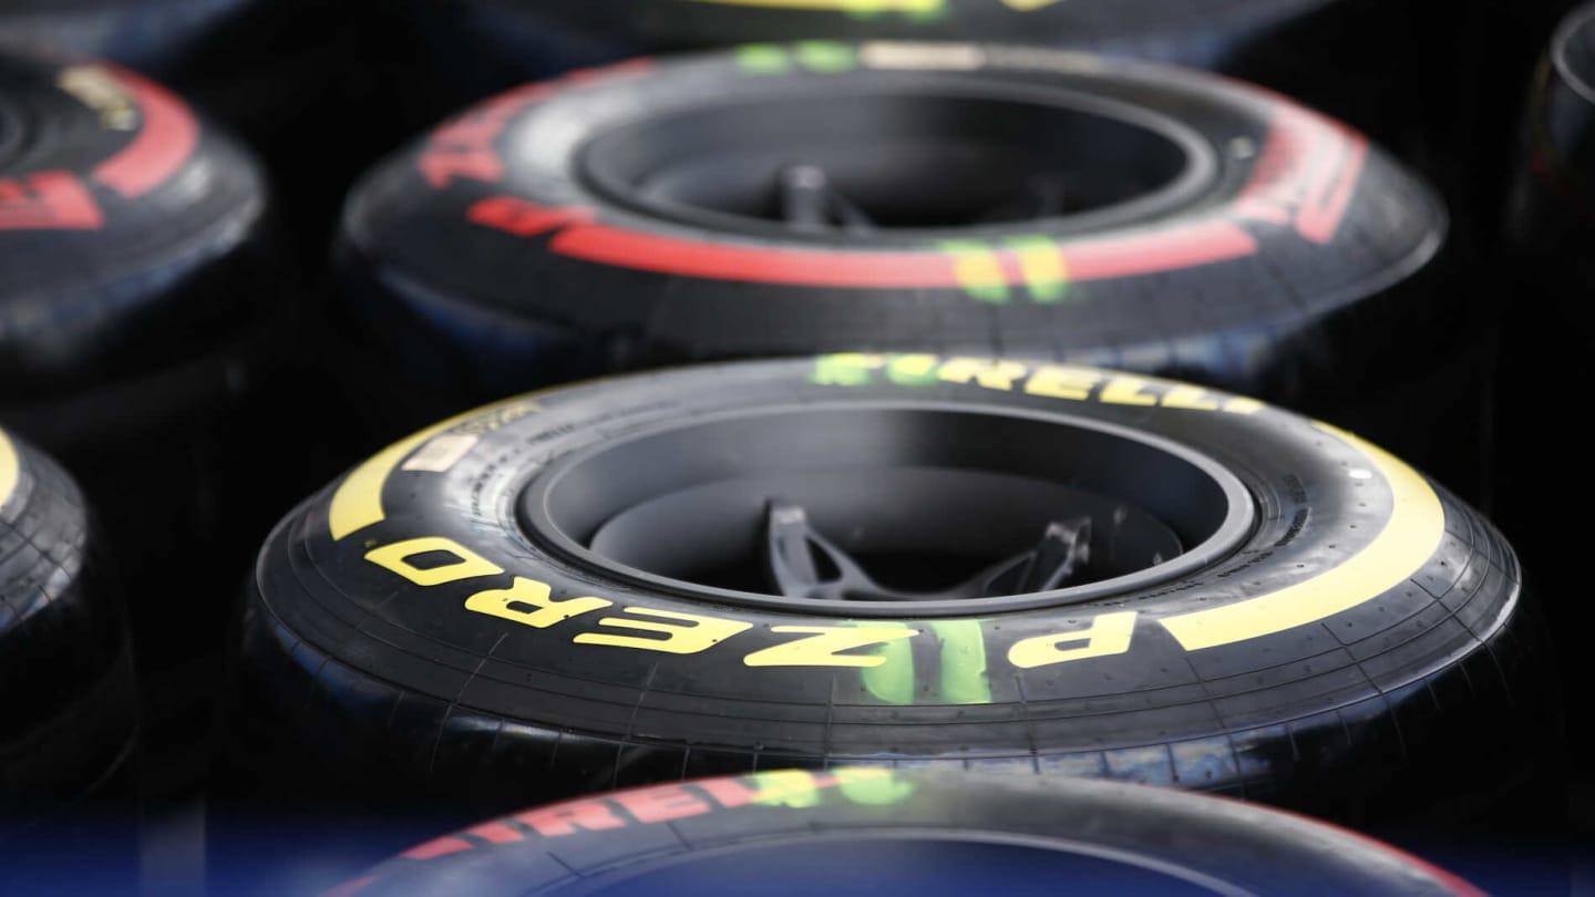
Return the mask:
<path fill-rule="evenodd" d="M 1316 426 L 1361 452 L 1384 477 L 1394 503 L 1389 522 L 1369 547 L 1306 583 L 1164 619 L 1187 651 L 1262 638 L 1372 602 L 1421 570 L 1445 538 L 1445 509 L 1429 480 L 1376 445 L 1325 423 Z"/>

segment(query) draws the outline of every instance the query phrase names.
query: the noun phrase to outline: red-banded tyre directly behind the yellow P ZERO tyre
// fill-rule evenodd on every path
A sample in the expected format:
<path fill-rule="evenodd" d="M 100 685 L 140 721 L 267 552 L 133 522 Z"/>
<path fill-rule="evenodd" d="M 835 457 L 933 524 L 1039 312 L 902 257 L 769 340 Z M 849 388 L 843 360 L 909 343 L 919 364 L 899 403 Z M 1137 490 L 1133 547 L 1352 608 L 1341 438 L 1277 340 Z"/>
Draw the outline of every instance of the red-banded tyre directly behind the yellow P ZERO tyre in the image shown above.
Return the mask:
<path fill-rule="evenodd" d="M 349 402 L 397 436 L 541 385 L 817 351 L 1045 356 L 1354 426 L 1471 495 L 1479 345 L 1440 200 L 1196 72 L 751 46 L 488 101 L 378 166 L 338 249 Z M 357 350 L 343 350 L 348 358 Z"/>

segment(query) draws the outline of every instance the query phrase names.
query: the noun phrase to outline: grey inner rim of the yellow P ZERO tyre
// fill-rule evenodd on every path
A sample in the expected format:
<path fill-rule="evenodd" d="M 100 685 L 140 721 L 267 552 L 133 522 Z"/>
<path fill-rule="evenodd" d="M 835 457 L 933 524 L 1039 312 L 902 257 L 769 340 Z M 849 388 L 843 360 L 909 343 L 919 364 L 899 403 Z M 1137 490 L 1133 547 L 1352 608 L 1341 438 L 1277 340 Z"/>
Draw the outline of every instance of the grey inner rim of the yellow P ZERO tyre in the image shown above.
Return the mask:
<path fill-rule="evenodd" d="M 1070 605 L 1231 554 L 1255 506 L 1166 439 L 1059 415 L 786 409 L 574 453 L 526 533 L 612 576 L 839 616 Z"/>

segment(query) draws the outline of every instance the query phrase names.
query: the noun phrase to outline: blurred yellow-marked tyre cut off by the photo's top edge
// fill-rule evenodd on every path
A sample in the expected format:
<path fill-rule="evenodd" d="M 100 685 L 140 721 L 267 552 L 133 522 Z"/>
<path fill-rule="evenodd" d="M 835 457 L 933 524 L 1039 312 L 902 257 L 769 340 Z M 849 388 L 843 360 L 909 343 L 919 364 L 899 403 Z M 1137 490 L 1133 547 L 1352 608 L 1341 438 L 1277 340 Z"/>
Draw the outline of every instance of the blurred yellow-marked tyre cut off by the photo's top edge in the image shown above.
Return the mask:
<path fill-rule="evenodd" d="M 1348 6 L 1353 3 L 1338 3 Z M 407 0 L 418 40 L 475 96 L 573 69 L 662 51 L 790 40 L 981 40 L 1043 43 L 1198 67 L 1335 0 L 1217 0 L 1171 6 L 1072 0 L 1029 8 L 997 0 Z"/>

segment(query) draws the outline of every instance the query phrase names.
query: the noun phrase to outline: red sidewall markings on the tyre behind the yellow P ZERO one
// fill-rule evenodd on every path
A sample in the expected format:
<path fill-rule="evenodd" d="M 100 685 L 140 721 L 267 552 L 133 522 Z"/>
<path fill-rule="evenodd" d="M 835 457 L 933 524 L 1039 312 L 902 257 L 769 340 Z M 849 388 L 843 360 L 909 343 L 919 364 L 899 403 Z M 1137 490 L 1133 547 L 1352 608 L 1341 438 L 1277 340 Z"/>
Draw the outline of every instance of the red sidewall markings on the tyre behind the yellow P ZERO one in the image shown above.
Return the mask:
<path fill-rule="evenodd" d="M 646 67 L 635 65 L 622 73 L 640 70 Z M 514 113 L 545 101 L 550 93 L 547 85 L 520 88 L 442 128 L 419 161 L 427 182 L 434 188 L 447 188 L 456 177 L 501 182 L 504 171 L 493 140 Z M 1064 279 L 1107 281 L 1257 255 L 1262 251 L 1258 239 L 1241 227 L 1247 220 L 1292 228 L 1314 244 L 1330 243 L 1362 177 L 1367 139 L 1338 121 L 1278 101 L 1260 152 L 1258 169 L 1235 203 L 1207 217 L 1056 243 Z M 549 251 L 557 255 L 657 275 L 831 289 L 968 287 L 960 279 L 957 254 L 936 247 L 866 252 L 718 243 L 605 223 L 597 220 L 598 214 L 589 207 L 550 207 L 498 195 L 472 204 L 467 219 L 520 238 L 553 231 Z M 990 244 L 989 259 L 995 262 L 990 270 L 998 271 L 994 286 L 1026 286 L 1021 251 L 998 241 Z"/>

